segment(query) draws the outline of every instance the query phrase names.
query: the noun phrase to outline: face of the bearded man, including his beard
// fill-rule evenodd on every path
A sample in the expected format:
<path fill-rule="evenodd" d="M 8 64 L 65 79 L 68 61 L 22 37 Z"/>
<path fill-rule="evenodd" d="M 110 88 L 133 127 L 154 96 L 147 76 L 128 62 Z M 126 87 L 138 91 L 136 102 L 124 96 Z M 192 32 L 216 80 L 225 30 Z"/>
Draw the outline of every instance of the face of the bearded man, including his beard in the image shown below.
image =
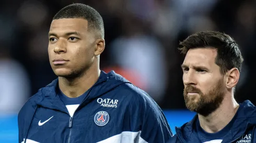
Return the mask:
<path fill-rule="evenodd" d="M 224 76 L 215 63 L 217 50 L 190 49 L 182 64 L 185 105 L 191 111 L 208 115 L 222 103 Z"/>

